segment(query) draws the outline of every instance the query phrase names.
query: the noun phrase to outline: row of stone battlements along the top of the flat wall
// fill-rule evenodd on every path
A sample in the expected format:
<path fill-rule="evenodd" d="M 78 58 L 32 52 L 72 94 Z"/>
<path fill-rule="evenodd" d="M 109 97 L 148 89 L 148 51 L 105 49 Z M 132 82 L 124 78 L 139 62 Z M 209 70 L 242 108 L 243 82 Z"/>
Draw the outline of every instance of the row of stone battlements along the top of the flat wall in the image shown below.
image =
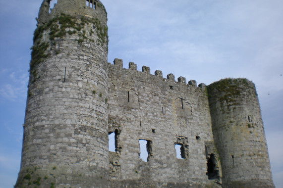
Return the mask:
<path fill-rule="evenodd" d="M 115 58 L 114 61 L 113 61 L 113 64 L 112 63 L 108 63 L 108 64 L 109 64 L 109 66 L 113 66 L 114 69 L 117 69 L 117 70 L 125 69 L 125 68 L 123 68 L 123 60 L 122 59 Z M 147 74 L 147 76 L 153 76 L 156 79 L 159 79 L 159 82 L 162 80 L 163 82 L 168 83 L 168 84 L 175 83 L 178 86 L 186 85 L 187 87 L 197 87 L 197 82 L 195 80 L 190 80 L 188 83 L 186 83 L 186 78 L 184 78 L 182 76 L 178 77 L 177 81 L 175 81 L 175 76 L 172 73 L 168 74 L 167 77 L 164 78 L 161 70 L 156 70 L 154 72 L 154 75 L 152 75 L 150 73 L 150 67 L 147 67 L 147 66 L 142 66 L 142 71 L 138 71 L 137 65 L 134 62 L 129 62 L 127 70 L 137 71 L 139 73 L 145 73 L 145 74 Z M 201 84 L 198 85 L 198 88 L 205 90 L 206 85 L 201 83 Z"/>

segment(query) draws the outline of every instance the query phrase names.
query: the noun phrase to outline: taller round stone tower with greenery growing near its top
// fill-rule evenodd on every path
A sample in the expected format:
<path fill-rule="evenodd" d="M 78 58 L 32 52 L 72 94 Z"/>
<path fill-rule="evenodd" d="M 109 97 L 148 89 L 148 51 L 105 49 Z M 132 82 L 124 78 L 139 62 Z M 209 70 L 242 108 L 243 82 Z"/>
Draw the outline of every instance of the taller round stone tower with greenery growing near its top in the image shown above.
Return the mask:
<path fill-rule="evenodd" d="M 20 187 L 108 187 L 108 27 L 99 0 L 44 0 L 34 33 Z"/>

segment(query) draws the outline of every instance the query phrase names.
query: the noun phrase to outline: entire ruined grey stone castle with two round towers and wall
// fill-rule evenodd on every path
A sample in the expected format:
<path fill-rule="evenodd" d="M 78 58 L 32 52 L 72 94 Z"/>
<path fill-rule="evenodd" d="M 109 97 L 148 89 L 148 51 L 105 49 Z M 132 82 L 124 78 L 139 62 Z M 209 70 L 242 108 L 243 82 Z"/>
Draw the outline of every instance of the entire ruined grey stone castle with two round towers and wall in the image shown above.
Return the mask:
<path fill-rule="evenodd" d="M 58 0 L 50 11 L 51 1 L 34 33 L 15 188 L 274 188 L 252 82 L 197 86 L 108 63 L 102 2 Z"/>

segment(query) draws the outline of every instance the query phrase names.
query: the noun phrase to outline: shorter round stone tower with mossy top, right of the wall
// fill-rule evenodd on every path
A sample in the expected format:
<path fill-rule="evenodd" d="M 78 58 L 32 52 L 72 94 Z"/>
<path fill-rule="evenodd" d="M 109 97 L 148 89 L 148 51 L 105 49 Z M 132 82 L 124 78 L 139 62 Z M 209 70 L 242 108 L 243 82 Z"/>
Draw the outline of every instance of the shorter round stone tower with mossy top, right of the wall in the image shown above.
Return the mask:
<path fill-rule="evenodd" d="M 208 95 L 223 187 L 274 188 L 254 84 L 224 79 L 208 86 Z"/>

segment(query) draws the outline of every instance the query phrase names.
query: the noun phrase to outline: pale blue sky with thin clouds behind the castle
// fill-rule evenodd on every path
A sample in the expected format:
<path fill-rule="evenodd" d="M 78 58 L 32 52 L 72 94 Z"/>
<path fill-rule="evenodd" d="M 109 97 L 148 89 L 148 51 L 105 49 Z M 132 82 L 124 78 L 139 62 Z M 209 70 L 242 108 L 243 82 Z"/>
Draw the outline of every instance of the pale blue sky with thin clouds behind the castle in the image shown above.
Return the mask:
<path fill-rule="evenodd" d="M 51 4 L 55 0 L 51 1 Z M 20 166 L 30 47 L 42 0 L 0 0 L 0 188 Z M 283 0 L 102 0 L 108 61 L 121 58 L 209 85 L 257 88 L 274 182 L 283 188 Z"/>

